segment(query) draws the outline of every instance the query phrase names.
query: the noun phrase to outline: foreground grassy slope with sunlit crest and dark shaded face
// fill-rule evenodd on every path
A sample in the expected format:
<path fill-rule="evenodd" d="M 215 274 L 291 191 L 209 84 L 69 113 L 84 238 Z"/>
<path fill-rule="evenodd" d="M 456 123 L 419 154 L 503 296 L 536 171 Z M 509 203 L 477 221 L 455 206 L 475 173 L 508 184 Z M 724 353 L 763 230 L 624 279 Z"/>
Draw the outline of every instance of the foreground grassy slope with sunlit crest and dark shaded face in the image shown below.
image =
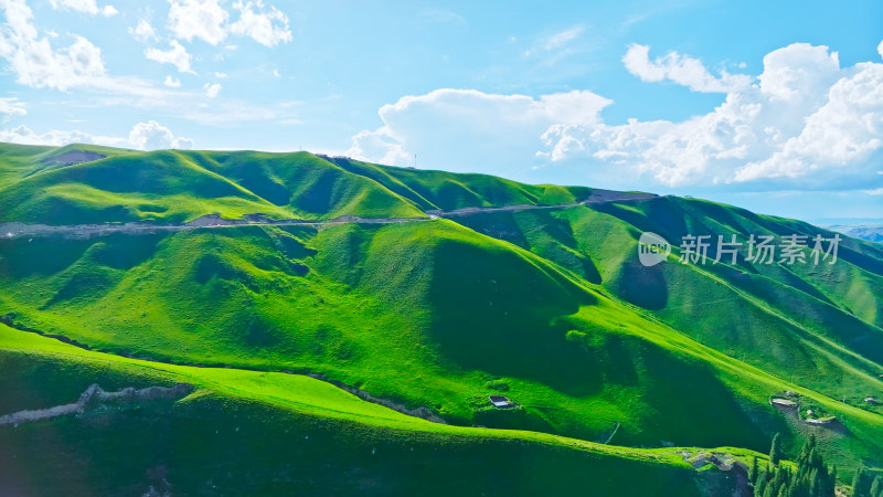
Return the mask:
<path fill-rule="evenodd" d="M 735 477 L 675 450 L 406 416 L 302 376 L 188 368 L 84 352 L 0 324 L 0 412 L 188 382 L 178 401 L 97 406 L 0 426 L 4 495 L 700 495 Z M 748 453 L 728 451 L 743 459 Z M 120 455 L 125 454 L 125 457 Z"/>

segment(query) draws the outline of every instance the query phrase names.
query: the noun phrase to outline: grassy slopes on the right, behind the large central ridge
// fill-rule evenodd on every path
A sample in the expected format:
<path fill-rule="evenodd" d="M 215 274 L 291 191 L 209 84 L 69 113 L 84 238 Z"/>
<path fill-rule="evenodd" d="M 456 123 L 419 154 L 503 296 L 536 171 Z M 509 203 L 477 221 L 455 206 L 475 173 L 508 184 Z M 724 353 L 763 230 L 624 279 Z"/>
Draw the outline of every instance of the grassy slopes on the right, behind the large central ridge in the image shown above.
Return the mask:
<path fill-rule="evenodd" d="M 631 204 L 556 212 L 474 215 L 462 222 L 554 261 L 702 343 L 853 405 L 883 389 L 883 251 L 840 242 L 836 264 L 681 264 L 687 234 L 735 233 L 742 241 L 772 234 L 825 232 L 805 223 L 759 216 L 710 202 L 659 198 Z M 673 245 L 672 257 L 645 267 L 636 255 L 641 232 Z M 714 254 L 713 246 L 710 254 Z M 811 255 L 807 252 L 811 261 Z"/>

